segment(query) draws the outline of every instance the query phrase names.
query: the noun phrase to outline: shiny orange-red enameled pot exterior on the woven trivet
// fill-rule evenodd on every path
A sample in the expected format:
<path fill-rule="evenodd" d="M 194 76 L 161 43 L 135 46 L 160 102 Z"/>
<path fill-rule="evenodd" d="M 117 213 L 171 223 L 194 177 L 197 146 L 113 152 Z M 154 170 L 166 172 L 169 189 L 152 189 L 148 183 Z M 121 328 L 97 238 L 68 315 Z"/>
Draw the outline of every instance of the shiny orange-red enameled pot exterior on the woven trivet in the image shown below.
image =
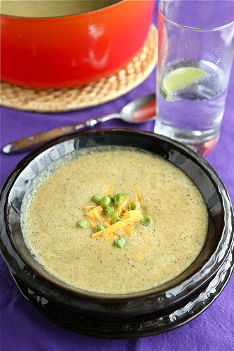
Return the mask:
<path fill-rule="evenodd" d="M 1 15 L 1 80 L 30 88 L 88 84 L 125 67 L 144 44 L 154 0 L 121 0 L 54 18 Z"/>

